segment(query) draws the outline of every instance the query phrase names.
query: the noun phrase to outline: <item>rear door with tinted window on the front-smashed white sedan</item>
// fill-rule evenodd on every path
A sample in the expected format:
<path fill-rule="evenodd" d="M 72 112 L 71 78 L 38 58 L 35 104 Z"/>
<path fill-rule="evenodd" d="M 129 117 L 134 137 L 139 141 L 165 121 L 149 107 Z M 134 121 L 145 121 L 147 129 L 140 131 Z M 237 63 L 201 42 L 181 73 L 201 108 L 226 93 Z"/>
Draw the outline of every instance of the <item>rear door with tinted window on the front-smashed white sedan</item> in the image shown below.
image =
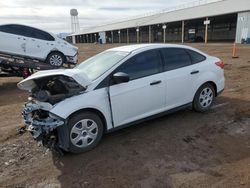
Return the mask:
<path fill-rule="evenodd" d="M 161 53 L 166 71 L 166 108 L 172 109 L 192 102 L 199 69 L 183 48 L 164 48 Z"/>

